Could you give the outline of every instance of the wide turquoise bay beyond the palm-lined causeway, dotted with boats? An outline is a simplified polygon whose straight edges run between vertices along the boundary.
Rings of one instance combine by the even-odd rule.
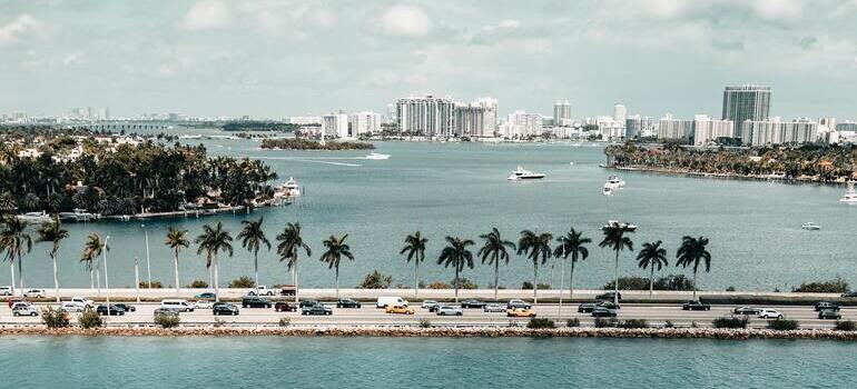
[[[196,142],[196,141],[195,141]],[[204,141],[213,154],[263,158],[283,178],[294,176],[305,189],[295,206],[265,209],[250,217],[265,217],[268,236],[287,221],[299,221],[313,247],[313,258],[303,258],[304,287],[329,287],[333,272],[318,261],[322,240],[331,233],[349,233],[356,256],[341,269],[342,286],[354,286],[378,269],[394,278],[394,285],[411,285],[413,268],[398,256],[406,233],[421,230],[430,238],[427,263],[422,279],[446,281],[452,269],[435,265],[445,235],[477,239],[491,227],[516,240],[522,229],[554,235],[574,226],[595,241],[591,256],[578,269],[575,286],[594,288],[612,277],[612,253],[599,249],[598,230],[608,219],[623,219],[640,226],[633,235],[636,247],[643,241],[663,240],[674,262],[674,250],[683,235],[706,236],[713,256],[710,273],[700,275],[700,286],[723,289],[735,286],[750,290],[789,289],[806,280],[837,275],[857,282],[855,216],[857,207],[837,199],[843,188],[791,186],[755,181],[695,179],[648,173],[623,173],[628,187],[604,197],[601,187],[611,173],[598,167],[604,161],[602,147],[571,143],[481,144],[378,142],[377,152],[390,160],[361,159],[362,151],[263,151],[250,140]],[[570,164],[570,162],[574,162]],[[518,164],[542,171],[542,182],[508,182]],[[162,245],[167,227],[177,226],[197,235],[207,222],[223,221],[237,233],[244,215],[148,222],[152,278],[173,283],[171,253]],[[804,231],[814,221],[820,231]],[[98,231],[110,236],[111,286],[134,283],[134,257],[141,259],[146,277],[142,229],[137,222],[67,225],[71,238],[60,249],[63,286],[88,286],[89,277],[79,263],[85,236]],[[36,246],[24,258],[29,286],[51,286],[47,245]],[[204,259],[195,249],[180,260],[181,283],[208,279]],[[623,275],[648,276],[637,268],[633,253],[623,253]],[[263,283],[287,280],[285,266],[275,253],[259,255]],[[559,265],[554,273],[559,271]],[[670,268],[670,272],[689,271]],[[253,273],[249,255],[236,246],[235,257],[221,260],[221,285]],[[489,267],[465,270],[463,276],[486,287],[493,279]],[[519,287],[532,277],[532,266],[513,257],[502,268],[501,285]],[[559,286],[558,276],[553,285]],[[8,283],[9,271],[0,271]],[[542,282],[551,282],[550,266],[540,270]]]

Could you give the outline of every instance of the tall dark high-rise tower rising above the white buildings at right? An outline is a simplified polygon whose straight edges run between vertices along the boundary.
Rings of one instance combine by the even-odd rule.
[[[735,136],[743,138],[742,123],[746,120],[765,121],[770,114],[769,87],[745,84],[726,87],[723,90],[723,116],[721,119],[735,122]]]

